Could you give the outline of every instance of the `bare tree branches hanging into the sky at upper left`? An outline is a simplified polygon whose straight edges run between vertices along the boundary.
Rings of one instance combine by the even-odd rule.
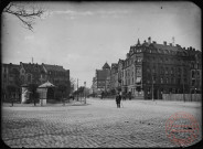
[[[32,31],[34,20],[41,18],[44,10],[34,4],[10,2],[2,12],[17,17],[26,29]]]

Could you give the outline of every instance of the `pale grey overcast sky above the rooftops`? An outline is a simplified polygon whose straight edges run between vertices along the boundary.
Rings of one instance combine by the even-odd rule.
[[[40,2],[33,32],[2,15],[2,62],[62,65],[90,87],[95,70],[126,58],[149,36],[201,50],[201,10],[192,2]]]

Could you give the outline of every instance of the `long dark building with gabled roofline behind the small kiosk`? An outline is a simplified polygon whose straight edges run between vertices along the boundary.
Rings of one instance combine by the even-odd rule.
[[[3,97],[8,94],[8,86],[15,86],[15,94],[21,92],[21,85],[41,85],[45,82],[51,82],[55,86],[65,86],[65,94],[70,94],[70,70],[64,70],[63,66],[49,65],[49,64],[33,64],[22,63],[15,64],[2,64],[2,91],[4,91]],[[11,88],[11,87],[10,87]]]

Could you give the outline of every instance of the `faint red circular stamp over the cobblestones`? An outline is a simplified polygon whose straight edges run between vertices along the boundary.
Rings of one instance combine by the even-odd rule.
[[[190,146],[199,136],[199,123],[191,114],[179,111],[165,123],[167,137],[178,146]]]

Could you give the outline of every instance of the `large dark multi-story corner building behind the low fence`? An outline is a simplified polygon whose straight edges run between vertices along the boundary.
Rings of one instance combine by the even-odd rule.
[[[201,58],[201,52],[192,47],[185,50],[167,42],[158,44],[151,42],[151,38],[140,44],[138,40],[125,60],[124,85],[135,98],[145,99],[162,98],[163,93],[200,91]]]

